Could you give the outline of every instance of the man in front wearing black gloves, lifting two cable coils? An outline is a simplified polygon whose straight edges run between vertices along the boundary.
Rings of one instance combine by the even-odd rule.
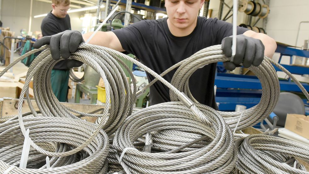
[[[232,35],[232,25],[217,19],[199,17],[198,13],[204,2],[205,0],[165,0],[168,18],[143,20],[120,30],[98,32],[89,43],[132,53],[158,74],[200,49],[220,43],[224,54],[231,57],[232,39],[229,36]],[[83,35],[84,39],[88,39],[91,34],[92,32]],[[238,27],[237,34],[234,62],[226,62],[226,69],[233,70],[240,63],[245,67],[258,66],[264,55],[273,56],[276,42],[269,36],[242,27]],[[63,42],[59,44],[60,39]],[[66,59],[80,42],[83,39],[79,32],[66,31],[42,38],[40,44],[34,47],[50,44],[52,56],[57,60],[60,58],[59,46],[63,48],[61,55]],[[71,60],[69,64],[81,65],[75,60]],[[197,70],[190,78],[190,91],[197,101],[217,109],[213,90],[215,69],[216,64],[211,64]],[[174,72],[164,78],[170,82]],[[153,77],[148,76],[148,79],[151,81]],[[168,88],[156,82],[150,88],[150,103],[153,105],[168,101]]]

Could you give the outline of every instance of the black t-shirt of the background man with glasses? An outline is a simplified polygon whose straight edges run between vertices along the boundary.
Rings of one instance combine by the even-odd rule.
[[[52,12],[50,12],[42,20],[41,31],[43,36],[51,36],[66,30],[71,30],[71,22],[68,14],[65,16],[65,18],[58,18],[53,15]],[[67,62],[68,60],[62,60],[58,62],[52,69],[69,70]]]

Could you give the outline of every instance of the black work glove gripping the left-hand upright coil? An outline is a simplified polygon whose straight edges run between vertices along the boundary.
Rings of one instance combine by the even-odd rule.
[[[50,45],[52,58],[60,59],[60,53],[63,59],[68,59],[70,53],[74,53],[80,43],[85,42],[79,31],[66,30],[61,33],[44,36],[33,44],[33,48],[41,48],[43,45]],[[83,62],[78,60],[69,60],[68,67],[78,67],[83,65]]]

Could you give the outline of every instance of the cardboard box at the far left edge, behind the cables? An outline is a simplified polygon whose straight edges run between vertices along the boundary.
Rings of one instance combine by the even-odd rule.
[[[16,82],[0,82],[0,98],[12,97],[17,98],[17,83]]]

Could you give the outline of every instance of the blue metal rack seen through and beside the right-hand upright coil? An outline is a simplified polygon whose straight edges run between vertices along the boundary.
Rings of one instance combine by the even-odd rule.
[[[292,61],[293,55],[309,58],[308,51],[288,48],[281,45],[278,45],[276,52],[281,53],[280,59],[283,55],[290,56],[290,61]],[[222,67],[223,63],[218,62],[217,66]],[[291,65],[282,66],[292,74],[309,74],[308,67]],[[281,71],[276,66],[274,67],[276,71]],[[280,90],[282,91],[301,92],[301,89],[294,82],[288,80],[279,80],[279,84]],[[217,72],[215,85],[217,86],[216,101],[219,103],[219,109],[224,111],[235,110],[236,104],[242,104],[247,106],[247,108],[251,108],[252,106],[255,106],[259,103],[262,96],[261,82],[257,79],[256,76],[235,75]],[[302,83],[302,85],[307,91],[309,91],[309,85],[307,83]],[[306,99],[303,100],[304,103],[307,103]],[[307,110],[309,113],[309,109]]]

